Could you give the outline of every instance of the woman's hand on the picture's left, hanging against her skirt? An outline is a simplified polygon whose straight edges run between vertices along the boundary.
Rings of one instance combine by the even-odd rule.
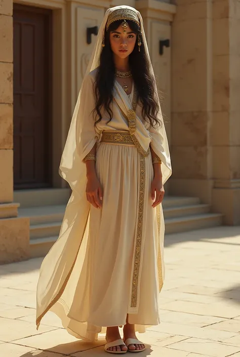
[[[102,207],[102,187],[96,174],[88,176],[86,195],[91,205],[96,208]]]

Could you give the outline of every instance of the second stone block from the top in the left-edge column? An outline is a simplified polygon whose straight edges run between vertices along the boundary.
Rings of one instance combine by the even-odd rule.
[[[0,43],[1,43],[0,62],[13,62],[12,16],[0,15]]]

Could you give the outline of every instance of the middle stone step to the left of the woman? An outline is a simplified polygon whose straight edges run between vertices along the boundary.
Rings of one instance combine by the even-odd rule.
[[[58,235],[62,222],[48,222],[30,225],[30,240]]]

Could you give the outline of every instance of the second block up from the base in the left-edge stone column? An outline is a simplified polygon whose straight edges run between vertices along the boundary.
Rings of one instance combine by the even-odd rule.
[[[13,148],[13,105],[0,104],[0,149]]]

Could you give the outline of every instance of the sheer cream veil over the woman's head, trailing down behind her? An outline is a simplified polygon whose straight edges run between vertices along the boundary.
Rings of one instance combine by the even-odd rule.
[[[137,13],[140,19],[142,41],[148,56],[150,71],[152,75],[154,75],[140,13],[128,6],[118,6],[106,11],[83,82],[86,80],[88,74],[98,67],[106,22],[109,14],[117,9],[131,9]],[[90,90],[89,87],[87,88],[87,92],[88,90]],[[63,326],[69,333],[76,337],[79,337],[78,334],[72,332],[77,329],[75,326],[76,321],[69,318],[67,310],[69,306],[71,306],[74,298],[76,282],[79,279],[79,272],[81,272],[83,268],[88,241],[90,203],[86,199],[85,190],[87,178],[86,165],[83,163],[83,158],[97,141],[97,138],[91,138],[88,145],[86,145],[86,138],[85,144],[83,138],[81,139],[83,126],[81,119],[85,114],[83,107],[85,106],[84,102],[88,96],[88,93],[84,92],[86,91],[80,90],[77,98],[59,168],[59,173],[69,183],[72,194],[66,207],[59,238],[42,263],[36,294],[37,328],[47,311],[52,310],[61,318]],[[160,111],[159,119],[161,118],[162,114]],[[162,165],[162,173],[163,182],[165,182],[171,175],[171,162],[164,123],[158,132],[151,132],[151,135],[152,148],[164,164]],[[159,214],[161,214],[161,219],[163,220],[162,211]],[[161,224],[160,230],[159,234],[163,248],[164,224]],[[80,335],[83,336],[84,332]]]

